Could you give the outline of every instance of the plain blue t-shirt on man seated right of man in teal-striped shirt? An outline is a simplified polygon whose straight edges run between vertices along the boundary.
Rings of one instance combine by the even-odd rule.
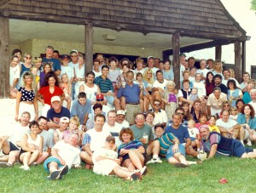
[[[180,125],[178,128],[172,128],[172,125],[168,126],[166,127],[165,133],[174,134],[179,140],[180,144],[186,143],[185,139],[189,138],[188,128],[185,128],[182,125]]]

